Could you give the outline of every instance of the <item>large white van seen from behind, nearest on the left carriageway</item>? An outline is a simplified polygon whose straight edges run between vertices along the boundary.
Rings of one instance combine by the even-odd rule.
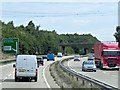
[[[16,58],[15,81],[20,79],[34,79],[37,81],[37,58],[36,55],[18,55]]]

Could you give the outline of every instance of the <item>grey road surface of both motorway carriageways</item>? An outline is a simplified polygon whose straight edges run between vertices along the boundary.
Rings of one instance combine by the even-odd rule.
[[[56,60],[61,60],[63,58],[56,58]],[[91,77],[93,79],[96,79],[98,81],[104,82],[106,84],[109,84],[113,87],[118,88],[118,81],[120,80],[120,77],[118,77],[118,71],[117,70],[100,70],[97,69],[96,72],[83,72],[82,71],[82,62],[84,60],[87,60],[87,57],[81,58],[81,61],[73,61],[70,60],[65,63],[66,66],[70,67],[70,69],[86,75],[88,77]],[[49,73],[49,65],[53,63],[54,61],[47,61],[45,59],[45,64],[44,66],[40,66],[38,68],[38,81],[21,81],[21,82],[15,82],[14,81],[14,73],[15,70],[13,68],[13,63],[11,64],[6,64],[0,66],[0,89],[7,88],[7,89],[14,89],[16,88],[25,88],[25,89],[41,89],[41,88],[60,88],[53,80]],[[7,90],[4,89],[4,90]]]

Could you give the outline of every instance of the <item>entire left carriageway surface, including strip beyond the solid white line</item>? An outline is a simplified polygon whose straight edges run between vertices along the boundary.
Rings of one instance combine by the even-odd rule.
[[[66,58],[66,57],[63,57]],[[63,58],[56,58],[56,60],[61,60]],[[15,88],[27,88],[27,89],[33,89],[33,88],[59,88],[57,84],[54,82],[53,78],[51,77],[49,73],[49,65],[53,63],[54,61],[47,61],[45,59],[44,66],[40,66],[38,68],[38,81],[20,81],[15,82],[14,81],[14,73],[15,69],[13,68],[13,63],[2,65],[0,66],[0,89],[2,88],[8,88],[11,90]],[[5,89],[6,90],[6,89]],[[16,89],[15,89],[16,90]]]

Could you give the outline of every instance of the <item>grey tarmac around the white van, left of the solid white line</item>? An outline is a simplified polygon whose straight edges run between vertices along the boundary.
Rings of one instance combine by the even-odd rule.
[[[45,63],[48,63],[45,61]],[[45,64],[47,65],[47,64]],[[2,82],[2,88],[47,88],[46,83],[44,82],[44,79],[42,77],[44,66],[40,66],[38,68],[38,81],[20,81],[15,82],[14,81],[14,68],[11,65],[3,67],[2,72],[3,79],[5,79]],[[6,76],[7,75],[7,76]]]

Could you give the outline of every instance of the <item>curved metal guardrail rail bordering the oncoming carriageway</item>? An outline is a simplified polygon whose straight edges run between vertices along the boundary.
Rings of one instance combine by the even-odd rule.
[[[69,58],[69,59],[72,59],[72,58]],[[87,77],[87,76],[85,76],[85,75],[82,75],[82,74],[80,74],[80,73],[77,73],[77,72],[71,70],[69,67],[65,67],[62,63],[63,63],[64,61],[66,61],[66,60],[68,60],[68,59],[64,59],[64,60],[61,60],[61,61],[59,62],[60,67],[61,67],[64,71],[66,71],[66,72],[74,75],[74,76],[77,77],[77,78],[80,78],[80,79],[82,79],[82,80],[86,80],[86,81],[88,81],[88,82],[91,82],[91,83],[97,85],[99,88],[101,88],[101,89],[103,89],[103,90],[118,90],[118,88],[115,88],[115,87],[110,86],[110,85],[108,85],[108,84],[106,84],[106,83],[100,82],[100,81],[98,81],[98,80],[92,79],[92,78]]]

